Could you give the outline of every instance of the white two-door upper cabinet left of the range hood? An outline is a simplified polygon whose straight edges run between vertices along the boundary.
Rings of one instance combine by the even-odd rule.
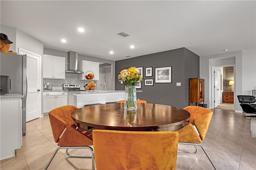
[[[65,79],[65,57],[44,54],[43,78]]]

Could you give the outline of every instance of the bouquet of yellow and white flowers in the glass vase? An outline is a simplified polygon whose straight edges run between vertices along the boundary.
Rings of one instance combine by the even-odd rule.
[[[140,75],[140,71],[136,67],[130,67],[128,69],[124,69],[120,71],[118,75],[119,82],[123,82],[126,86],[135,86],[136,83],[142,81],[142,76]]]

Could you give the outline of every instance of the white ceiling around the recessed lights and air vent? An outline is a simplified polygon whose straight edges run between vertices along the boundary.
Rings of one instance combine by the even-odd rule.
[[[1,24],[28,33],[44,48],[112,61],[181,47],[199,56],[256,47],[255,0],[1,0],[0,6]],[[130,36],[121,37],[120,32]]]

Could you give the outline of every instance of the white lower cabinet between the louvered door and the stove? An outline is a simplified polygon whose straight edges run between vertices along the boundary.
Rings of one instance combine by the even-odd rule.
[[[68,93],[43,92],[43,112],[49,113],[52,109],[68,105]]]

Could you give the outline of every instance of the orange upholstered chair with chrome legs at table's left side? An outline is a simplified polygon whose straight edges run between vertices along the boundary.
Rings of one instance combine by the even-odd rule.
[[[49,119],[52,127],[54,141],[58,143],[58,147],[50,158],[45,170],[48,168],[52,159],[59,149],[66,149],[66,154],[72,157],[92,158],[92,169],[94,170],[94,151],[88,145],[93,145],[92,133],[84,131],[76,126],[71,118],[72,111],[78,109],[75,106],[62,106],[49,112]],[[92,156],[70,155],[68,149],[87,148],[92,152]]]

